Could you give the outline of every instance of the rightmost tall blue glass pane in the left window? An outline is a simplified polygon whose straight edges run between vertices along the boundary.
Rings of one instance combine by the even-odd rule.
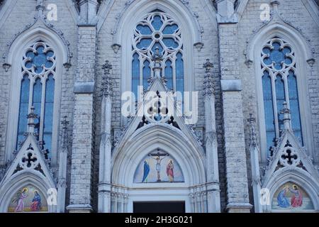
[[[52,124],[53,124],[53,108],[55,98],[55,79],[53,75],[47,78],[45,87],[45,116],[43,127],[43,142],[45,150],[51,150],[52,145]]]

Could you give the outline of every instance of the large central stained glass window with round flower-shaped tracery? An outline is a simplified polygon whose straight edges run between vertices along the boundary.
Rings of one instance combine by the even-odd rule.
[[[147,79],[153,76],[152,55],[162,55],[161,77],[167,88],[184,92],[184,56],[181,29],[177,21],[164,11],[148,13],[135,26],[132,38],[132,91],[138,96],[138,86],[147,89]]]

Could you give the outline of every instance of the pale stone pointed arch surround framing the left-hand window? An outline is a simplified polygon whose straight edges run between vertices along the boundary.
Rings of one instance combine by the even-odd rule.
[[[50,45],[55,53],[55,72],[53,78],[54,86],[54,105],[52,120],[52,163],[57,162],[57,139],[60,114],[58,111],[61,99],[62,77],[65,73],[65,67],[69,65],[72,53],[66,40],[62,40],[61,34],[56,33],[52,28],[47,27],[45,21],[38,19],[33,26],[21,32],[20,35],[13,38],[6,55],[6,63],[11,65],[11,93],[9,102],[9,121],[6,136],[6,160],[12,160],[13,150],[16,150],[16,136],[18,134],[18,105],[20,100],[21,87],[21,62],[26,49],[33,43],[41,41]],[[64,67],[65,66],[65,67]],[[37,75],[35,75],[36,77]],[[19,78],[19,79],[18,79]],[[46,77],[45,77],[46,78]],[[29,109],[28,109],[29,111]]]

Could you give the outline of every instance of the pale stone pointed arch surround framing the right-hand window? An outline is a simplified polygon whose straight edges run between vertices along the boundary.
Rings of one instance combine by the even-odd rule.
[[[266,125],[265,125],[265,114],[264,114],[264,103],[263,103],[263,88],[262,88],[262,75],[264,70],[260,67],[261,65],[261,53],[269,40],[273,38],[279,38],[284,40],[286,43],[293,48],[295,53],[296,70],[297,75],[297,87],[300,104],[300,115],[302,124],[302,135],[304,138],[304,145],[309,150],[310,155],[313,155],[313,130],[312,123],[310,121],[310,103],[307,99],[308,96],[308,83],[307,83],[307,60],[312,58],[310,46],[306,41],[306,38],[297,31],[295,28],[290,26],[278,18],[274,18],[267,25],[262,27],[250,40],[247,45],[247,61],[253,62],[254,64],[254,76],[256,77],[256,91],[258,101],[258,118],[259,118],[259,138],[267,138]],[[276,119],[275,119],[276,120]],[[278,130],[277,130],[278,131]],[[277,132],[278,134],[278,132]],[[279,137],[279,136],[278,136]],[[267,162],[267,141],[260,141],[261,157],[262,162]]]

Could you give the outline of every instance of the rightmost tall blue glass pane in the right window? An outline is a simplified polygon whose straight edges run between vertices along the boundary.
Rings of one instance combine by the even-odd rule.
[[[301,118],[298,99],[297,79],[293,71],[288,76],[289,104],[291,109],[291,125],[293,133],[301,139],[303,145],[303,135],[301,131]]]

